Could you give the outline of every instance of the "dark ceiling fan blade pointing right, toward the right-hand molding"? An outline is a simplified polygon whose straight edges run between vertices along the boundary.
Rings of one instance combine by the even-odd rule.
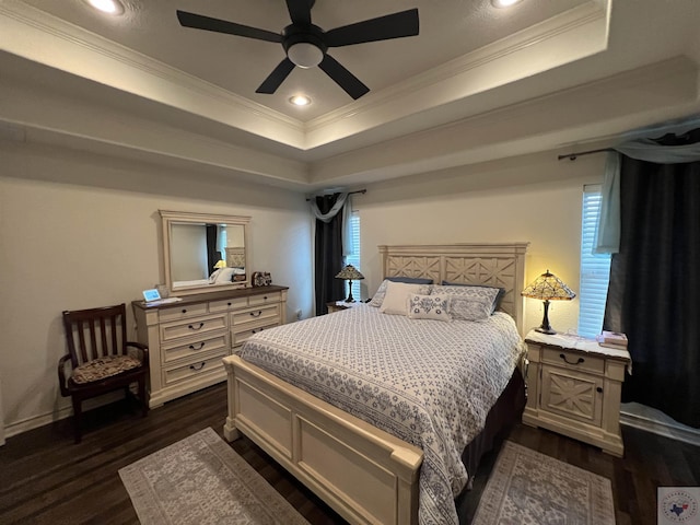
[[[387,14],[355,24],[343,25],[326,32],[324,39],[328,47],[349,46],[365,42],[387,40],[418,35],[418,9]]]

